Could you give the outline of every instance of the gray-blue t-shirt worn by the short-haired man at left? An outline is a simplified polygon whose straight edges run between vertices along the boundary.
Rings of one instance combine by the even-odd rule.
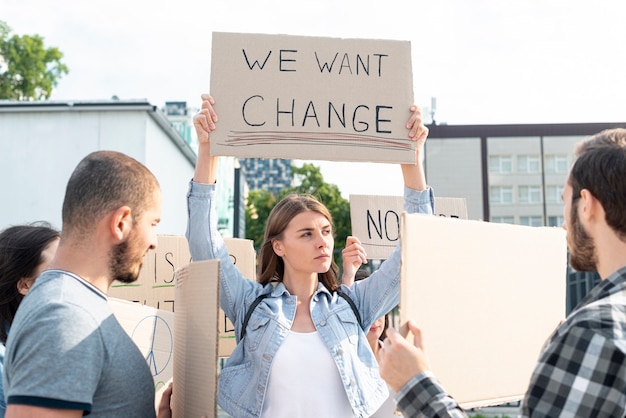
[[[80,409],[90,417],[154,417],[154,383],[106,295],[68,272],[44,272],[7,341],[7,403]]]

